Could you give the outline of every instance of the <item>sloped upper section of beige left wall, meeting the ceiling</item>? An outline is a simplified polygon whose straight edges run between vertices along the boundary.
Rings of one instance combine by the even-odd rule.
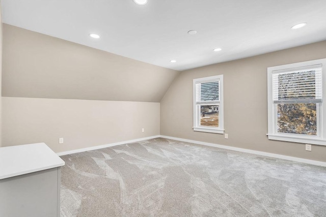
[[[160,102],[179,74],[8,24],[3,34],[4,97]]]

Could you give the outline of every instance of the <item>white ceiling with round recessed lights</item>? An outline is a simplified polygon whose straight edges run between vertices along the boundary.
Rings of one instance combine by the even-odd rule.
[[[2,0],[2,13],[7,24],[180,71],[326,40],[325,0]]]

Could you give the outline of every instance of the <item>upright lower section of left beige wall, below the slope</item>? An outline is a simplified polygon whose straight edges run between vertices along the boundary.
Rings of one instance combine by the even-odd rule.
[[[53,151],[61,152],[159,135],[159,103],[2,100],[3,146],[45,142]],[[64,144],[58,144],[60,137]]]

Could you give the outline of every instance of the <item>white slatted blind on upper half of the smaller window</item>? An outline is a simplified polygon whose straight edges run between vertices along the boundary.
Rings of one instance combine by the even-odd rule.
[[[220,102],[220,81],[196,83],[196,104]]]

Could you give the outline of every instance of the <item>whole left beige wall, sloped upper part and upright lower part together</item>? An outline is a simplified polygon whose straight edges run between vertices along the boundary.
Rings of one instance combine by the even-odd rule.
[[[3,33],[3,146],[62,152],[159,135],[157,102],[178,71],[8,24]]]

